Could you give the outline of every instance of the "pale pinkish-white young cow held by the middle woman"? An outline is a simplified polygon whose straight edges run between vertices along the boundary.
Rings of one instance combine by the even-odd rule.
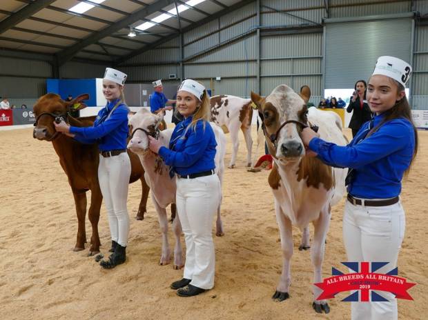
[[[171,261],[171,250],[168,245],[168,219],[166,217],[166,206],[175,203],[175,178],[169,176],[169,166],[166,166],[159,155],[154,154],[148,149],[148,134],[156,137],[162,144],[168,148],[169,140],[171,139],[172,129],[159,131],[159,124],[162,123],[161,115],[152,114],[148,110],[142,109],[130,117],[129,123],[133,136],[128,143],[128,149],[138,154],[142,165],[146,168],[144,177],[148,186],[150,186],[151,197],[155,205],[159,224],[162,231],[162,255],[159,264],[166,265]],[[215,140],[217,141],[215,153],[215,173],[219,176],[220,182],[223,181],[224,173],[224,153],[226,152],[226,137],[222,129],[211,123],[213,127]],[[221,201],[220,201],[221,203]],[[184,266],[182,258],[182,244],[180,242],[180,234],[182,226],[179,223],[178,215],[173,220],[173,232],[175,235],[174,248],[174,268],[179,269]],[[222,236],[223,224],[220,217],[220,206],[217,209],[216,235]]]

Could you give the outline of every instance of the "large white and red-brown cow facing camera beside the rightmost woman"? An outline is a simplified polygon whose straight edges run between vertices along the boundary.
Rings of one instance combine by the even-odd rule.
[[[291,226],[303,231],[302,246],[309,246],[309,223],[314,226],[311,260],[314,268],[314,283],[322,282],[321,265],[331,214],[331,206],[342,199],[347,170],[331,168],[319,159],[307,156],[300,132],[308,123],[319,127],[322,139],[344,146],[347,141],[342,134],[342,123],[337,114],[307,108],[310,97],[305,86],[300,97],[285,85],[275,88],[262,98],[251,92],[251,99],[263,117],[264,134],[274,166],[269,175],[275,212],[280,228],[283,266],[280,282],[273,299],[289,298],[291,283],[290,260],[293,254]],[[303,98],[303,99],[302,99]],[[302,247],[301,246],[301,247]],[[316,301],[320,288],[313,286],[313,308],[316,312],[329,312],[327,301]]]

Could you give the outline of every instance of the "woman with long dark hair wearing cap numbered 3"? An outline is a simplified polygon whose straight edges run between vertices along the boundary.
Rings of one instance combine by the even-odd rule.
[[[405,61],[378,58],[367,89],[374,117],[362,125],[348,146],[323,141],[310,128],[302,130],[310,156],[316,155],[329,166],[349,168],[344,247],[348,261],[385,263],[376,273],[396,268],[405,235],[402,177],[418,151],[418,132],[405,92],[410,74],[411,66]],[[395,295],[382,292],[379,296],[379,302],[352,302],[351,319],[398,319]]]

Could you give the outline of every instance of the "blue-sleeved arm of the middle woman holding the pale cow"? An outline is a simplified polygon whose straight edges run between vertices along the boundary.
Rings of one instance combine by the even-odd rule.
[[[198,121],[196,132],[193,128],[189,128],[188,130],[191,132],[186,139],[184,150],[177,152],[164,146],[159,148],[158,153],[164,159],[166,165],[188,168],[193,166],[202,157],[202,154],[204,154],[210,141],[209,136],[214,134],[211,126],[206,123],[204,128],[202,121]]]

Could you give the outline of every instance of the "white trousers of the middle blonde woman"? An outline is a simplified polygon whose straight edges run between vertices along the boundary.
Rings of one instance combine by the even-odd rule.
[[[184,278],[202,289],[214,286],[215,250],[213,218],[220,204],[220,180],[217,174],[195,179],[177,178],[176,204],[184,239],[186,263]]]

